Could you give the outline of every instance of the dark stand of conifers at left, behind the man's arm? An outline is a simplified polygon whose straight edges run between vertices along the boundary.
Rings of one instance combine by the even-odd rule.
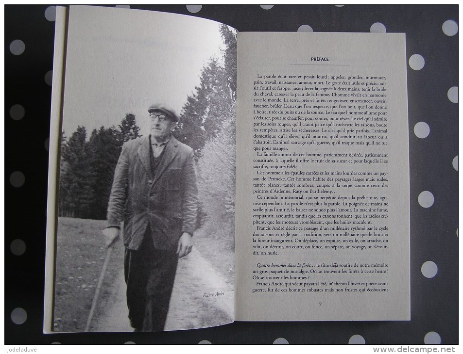
[[[59,183],[60,216],[103,220],[122,144],[139,137],[135,115],[126,114],[118,126],[78,127],[69,140],[62,133]]]

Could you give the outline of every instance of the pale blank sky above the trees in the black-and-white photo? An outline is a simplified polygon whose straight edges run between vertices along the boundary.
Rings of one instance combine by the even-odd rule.
[[[202,67],[223,48],[210,20],[133,9],[71,6],[63,129],[117,126],[126,113],[148,132],[148,107],[180,113]]]

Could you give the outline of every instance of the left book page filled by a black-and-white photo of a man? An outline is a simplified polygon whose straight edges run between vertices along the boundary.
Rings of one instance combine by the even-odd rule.
[[[233,322],[236,30],[58,7],[52,89],[44,332]]]

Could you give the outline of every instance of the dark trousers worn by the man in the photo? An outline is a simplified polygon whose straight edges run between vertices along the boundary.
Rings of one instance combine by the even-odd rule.
[[[149,233],[148,227],[141,247],[126,248],[124,257],[130,324],[143,332],[164,330],[178,263],[175,251],[154,248]]]

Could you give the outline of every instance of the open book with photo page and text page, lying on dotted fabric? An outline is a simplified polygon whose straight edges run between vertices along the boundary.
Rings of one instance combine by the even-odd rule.
[[[167,152],[152,160],[169,176],[158,189],[166,210],[183,213],[148,227],[176,230],[175,220],[178,238],[190,234],[193,161],[197,229],[173,285],[135,300],[132,291],[132,312],[160,288],[171,291],[164,330],[410,320],[404,34],[238,33],[191,16],[86,6],[56,15],[44,332],[149,328],[129,321],[126,294],[128,259],[149,238],[131,243],[130,203],[151,215],[153,188],[147,198],[140,172],[123,176],[137,164],[132,147],[153,144],[153,112],[175,128],[166,146],[183,149],[173,162]],[[120,225],[106,220],[114,193]],[[124,235],[110,247],[108,226]]]

